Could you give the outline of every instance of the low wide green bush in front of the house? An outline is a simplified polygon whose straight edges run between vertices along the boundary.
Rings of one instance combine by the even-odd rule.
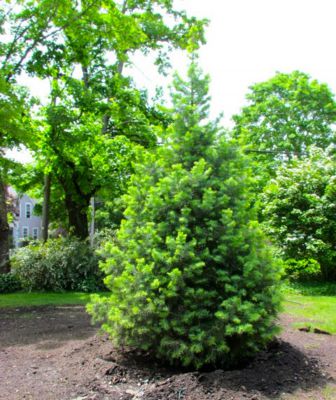
[[[11,265],[25,290],[93,292],[104,287],[98,261],[87,242],[57,238],[16,250]]]

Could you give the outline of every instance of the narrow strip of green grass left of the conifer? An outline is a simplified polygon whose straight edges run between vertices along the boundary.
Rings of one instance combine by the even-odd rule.
[[[106,295],[106,293],[102,293]],[[90,300],[89,293],[10,293],[0,294],[0,308],[3,307],[30,307],[44,305],[85,305]]]

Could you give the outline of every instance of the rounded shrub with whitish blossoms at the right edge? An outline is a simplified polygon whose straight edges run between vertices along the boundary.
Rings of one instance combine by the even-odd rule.
[[[314,259],[329,281],[336,280],[335,195],[335,159],[315,149],[280,168],[263,196],[265,229],[284,259],[296,260],[300,269]]]

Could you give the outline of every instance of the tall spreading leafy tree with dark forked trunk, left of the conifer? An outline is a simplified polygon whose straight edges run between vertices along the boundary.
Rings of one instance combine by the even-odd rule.
[[[166,0],[18,3],[3,67],[8,76],[26,70],[52,82],[57,104],[51,100],[45,112],[39,156],[64,192],[69,226],[84,238],[90,197],[102,186],[122,186],[118,179],[129,175],[121,172],[127,161],[121,166],[119,156],[130,142],[155,143],[158,114],[124,67],[136,52],[154,52],[163,70],[170,49],[203,41],[205,21]]]

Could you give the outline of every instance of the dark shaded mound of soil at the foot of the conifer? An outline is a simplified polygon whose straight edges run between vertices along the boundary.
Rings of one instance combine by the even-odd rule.
[[[277,399],[283,393],[318,389],[331,383],[317,359],[282,340],[275,341],[247,365],[230,371],[174,371],[132,352],[119,359],[114,353],[110,361],[112,368],[107,374],[114,383],[136,379],[157,382],[144,389],[146,400]]]

